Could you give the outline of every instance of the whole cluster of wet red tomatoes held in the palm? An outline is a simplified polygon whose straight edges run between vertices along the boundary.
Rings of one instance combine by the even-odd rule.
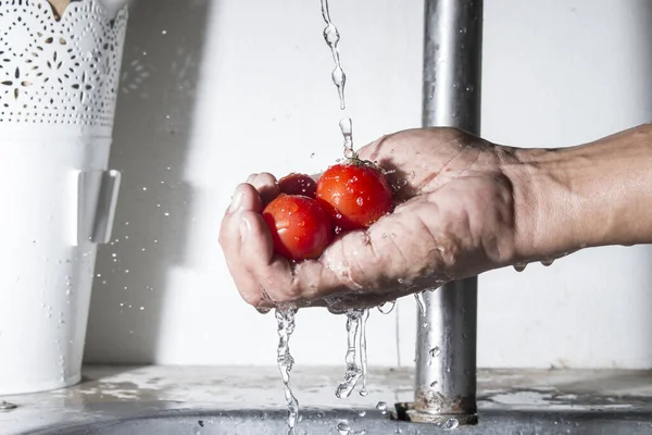
[[[274,250],[294,261],[318,258],[341,232],[366,228],[387,214],[392,195],[385,175],[358,158],[328,167],[314,181],[292,173],[263,210]]]

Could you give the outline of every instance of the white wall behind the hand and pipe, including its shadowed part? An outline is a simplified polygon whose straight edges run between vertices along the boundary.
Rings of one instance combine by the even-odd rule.
[[[359,145],[421,120],[422,0],[331,0]],[[565,146],[652,119],[648,0],[486,1],[482,130]],[[317,0],[140,0],[131,8],[87,360],[273,364],[276,330],[237,295],[220,220],[251,172],[341,153]],[[314,153],[314,156],[313,156]],[[165,214],[168,213],[168,214]],[[115,257],[113,257],[115,254]],[[652,366],[652,248],[480,277],[481,366]],[[412,298],[369,320],[371,365],[412,364]],[[298,315],[299,364],[343,364],[344,322]]]

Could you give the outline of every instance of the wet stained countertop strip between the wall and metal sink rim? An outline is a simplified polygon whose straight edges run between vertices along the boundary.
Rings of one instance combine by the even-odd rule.
[[[413,369],[369,368],[368,395],[338,399],[343,368],[297,368],[290,384],[301,407],[391,408],[413,397]],[[23,434],[61,422],[100,419],[116,406],[156,409],[284,409],[277,368],[86,366],[76,386],[0,397],[17,407],[0,411],[0,434]],[[480,370],[478,408],[636,410],[652,412],[652,372],[627,370]],[[123,411],[121,411],[123,412]]]

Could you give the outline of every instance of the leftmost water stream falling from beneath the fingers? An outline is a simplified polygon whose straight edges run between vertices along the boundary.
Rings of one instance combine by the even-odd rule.
[[[294,435],[294,425],[299,419],[299,401],[290,388],[290,372],[294,365],[294,359],[290,355],[290,337],[294,332],[296,312],[291,308],[275,310],[278,325],[277,362],[283,377],[284,394],[288,407],[288,435]]]

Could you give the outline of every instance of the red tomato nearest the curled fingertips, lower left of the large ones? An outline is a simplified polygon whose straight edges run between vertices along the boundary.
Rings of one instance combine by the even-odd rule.
[[[328,215],[312,198],[280,194],[265,207],[263,219],[274,250],[289,260],[316,259],[330,243]]]

